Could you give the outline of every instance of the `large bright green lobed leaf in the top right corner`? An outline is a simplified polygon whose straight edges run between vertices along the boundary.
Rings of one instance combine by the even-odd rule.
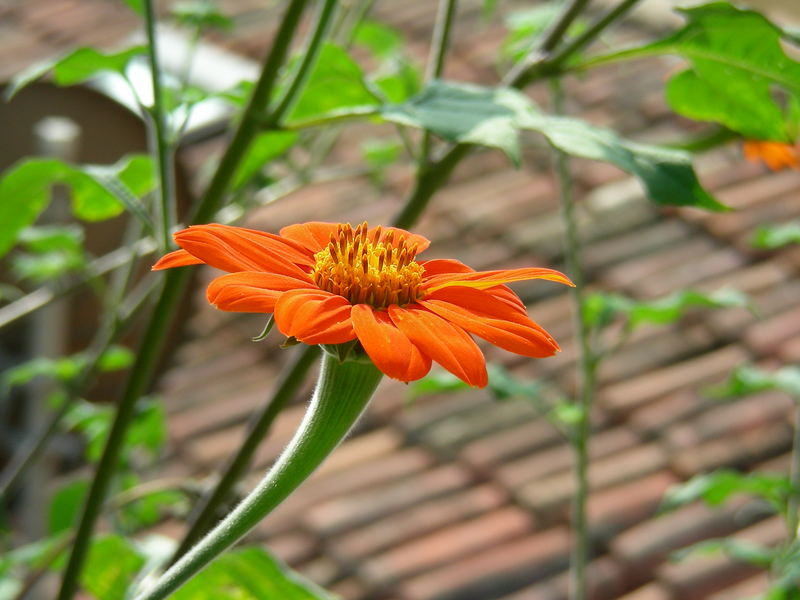
[[[728,2],[679,12],[687,19],[679,31],[586,64],[677,54],[691,64],[668,87],[668,100],[677,112],[717,121],[750,138],[793,142],[785,107],[774,93],[777,89],[800,96],[800,63],[784,52],[785,33],[762,14]]]

